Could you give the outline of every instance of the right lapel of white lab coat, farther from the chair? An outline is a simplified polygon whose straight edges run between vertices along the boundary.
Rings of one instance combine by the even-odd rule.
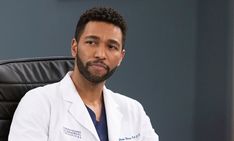
[[[104,87],[103,94],[106,109],[109,141],[117,141],[119,140],[123,115],[118,108],[118,104],[112,97],[112,92]]]

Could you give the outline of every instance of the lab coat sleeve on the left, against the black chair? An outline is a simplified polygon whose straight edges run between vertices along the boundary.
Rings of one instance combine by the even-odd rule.
[[[8,141],[48,141],[48,103],[37,90],[28,92],[15,111]]]

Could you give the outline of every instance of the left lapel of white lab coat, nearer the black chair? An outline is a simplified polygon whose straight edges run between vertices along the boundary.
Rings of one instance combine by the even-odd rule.
[[[79,96],[70,75],[67,75],[61,82],[61,91],[63,92],[63,98],[71,105],[68,108],[68,113],[83,127],[89,130],[95,138],[99,141],[99,137],[92,119],[87,111],[85,104]]]

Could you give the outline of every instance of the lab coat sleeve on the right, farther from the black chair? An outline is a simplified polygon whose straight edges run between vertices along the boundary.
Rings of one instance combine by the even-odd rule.
[[[142,105],[139,104],[139,111],[141,113],[140,115],[140,128],[141,128],[141,138],[142,141],[159,141],[159,137],[156,134],[155,130],[153,129],[150,118],[145,113]]]

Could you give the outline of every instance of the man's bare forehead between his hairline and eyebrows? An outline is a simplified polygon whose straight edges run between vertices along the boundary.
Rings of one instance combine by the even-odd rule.
[[[118,26],[107,22],[90,21],[86,24],[81,38],[97,36],[102,39],[111,39],[122,42],[122,31]]]

